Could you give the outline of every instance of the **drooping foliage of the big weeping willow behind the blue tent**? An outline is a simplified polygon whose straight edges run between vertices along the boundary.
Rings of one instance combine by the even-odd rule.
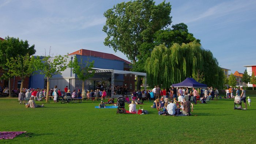
[[[197,75],[198,71],[204,73],[202,79],[208,86],[223,85],[223,72],[217,59],[197,41],[182,45],[174,43],[170,48],[165,45],[155,46],[147,58],[145,69],[147,82],[151,86],[162,84],[169,87],[186,77]]]

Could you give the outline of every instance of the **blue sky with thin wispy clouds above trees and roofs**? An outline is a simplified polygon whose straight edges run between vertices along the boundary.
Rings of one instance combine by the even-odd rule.
[[[169,0],[166,0],[168,2]],[[19,37],[35,44],[36,55],[79,49],[121,52],[103,45],[103,13],[121,0],[0,0],[0,37]],[[156,1],[156,4],[161,1]],[[223,68],[244,72],[256,64],[255,0],[172,0],[172,24],[185,23]]]

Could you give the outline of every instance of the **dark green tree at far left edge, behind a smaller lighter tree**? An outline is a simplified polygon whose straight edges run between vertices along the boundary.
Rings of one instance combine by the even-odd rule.
[[[0,41],[0,70],[3,72],[1,79],[9,79],[9,88],[11,87],[10,79],[12,72],[8,69],[7,60],[18,55],[25,56],[27,53],[31,56],[35,52],[35,45],[30,46],[27,40],[23,41],[19,40],[19,38],[8,36],[3,41]],[[11,92],[9,94],[11,96]]]

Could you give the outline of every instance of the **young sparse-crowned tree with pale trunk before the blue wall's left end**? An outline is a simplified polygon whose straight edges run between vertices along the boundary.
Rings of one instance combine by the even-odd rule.
[[[62,74],[61,72],[64,71],[65,69],[67,69],[67,56],[61,56],[61,55],[57,55],[57,56],[52,56],[52,54],[50,53],[49,50],[49,55],[46,55],[44,58],[37,62],[35,64],[37,70],[40,71],[40,74],[45,75],[46,79],[47,79],[47,86],[46,86],[46,102],[49,101],[49,86],[50,86],[50,82],[49,79],[57,74]]]

